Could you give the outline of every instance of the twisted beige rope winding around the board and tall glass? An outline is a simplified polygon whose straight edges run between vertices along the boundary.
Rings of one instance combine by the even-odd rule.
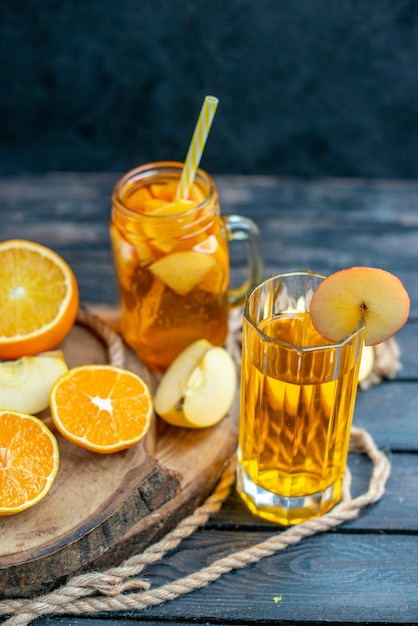
[[[103,340],[108,349],[110,364],[124,367],[124,346],[119,335],[114,333],[100,318],[85,309],[79,310],[77,322],[90,327]],[[235,318],[231,317],[232,329],[227,347],[233,352],[237,365],[240,360],[239,326],[239,315]],[[393,355],[396,360],[398,354]],[[395,369],[393,359],[391,362],[393,370]],[[384,374],[387,375],[388,371]],[[377,381],[373,381],[372,384],[374,382]],[[390,463],[385,454],[376,447],[372,437],[359,428],[352,428],[350,451],[366,454],[372,461],[373,470],[365,493],[354,499],[351,497],[351,473],[347,467],[341,501],[329,513],[286,530],[280,530],[267,540],[218,559],[198,572],[151,589],[150,584],[139,577],[143,569],[147,565],[160,561],[168,552],[176,549],[183,539],[202,527],[210,516],[219,511],[228,497],[234,484],[236,465],[235,457],[230,459],[213,493],[160,541],[149,546],[143,553],[126,559],[118,567],[112,567],[104,572],[89,572],[74,576],[63,587],[46,595],[34,599],[0,601],[0,615],[9,616],[3,622],[3,626],[27,626],[32,620],[42,615],[140,611],[147,607],[157,606],[201,589],[233,570],[257,563],[299,543],[302,539],[327,532],[344,522],[355,519],[362,508],[377,502],[382,497],[390,474]]]

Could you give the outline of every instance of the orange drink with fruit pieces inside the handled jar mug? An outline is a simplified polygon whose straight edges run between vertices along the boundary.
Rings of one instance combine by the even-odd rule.
[[[110,227],[122,307],[121,331],[152,370],[167,369],[196,339],[204,337],[222,345],[227,335],[229,257],[219,216],[209,207],[206,213],[196,208],[183,216],[169,210],[162,219],[141,218],[141,213],[152,212],[154,205],[156,214],[164,212],[176,187],[177,181],[161,181],[128,189],[124,203],[135,212],[135,219],[114,210]],[[193,186],[192,209],[203,194],[204,190]],[[152,267],[162,258],[190,251],[212,258],[213,264],[187,293],[178,293],[156,276]],[[176,271],[173,261],[170,273]]]

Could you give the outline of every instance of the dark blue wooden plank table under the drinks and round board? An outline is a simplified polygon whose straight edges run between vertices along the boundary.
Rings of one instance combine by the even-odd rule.
[[[116,304],[108,236],[117,174],[48,174],[0,180],[1,239],[46,244],[73,267],[85,302]],[[383,267],[411,295],[396,339],[403,369],[360,391],[355,424],[392,464],[386,493],[359,517],[306,538],[199,591],[121,614],[42,617],[36,624],[418,624],[418,181],[215,177],[223,212],[247,215],[264,240],[266,274],[350,265]],[[233,277],[242,257],[232,250]],[[350,455],[353,493],[370,463]],[[279,532],[232,493],[221,511],[146,571],[152,587],[206,567]]]

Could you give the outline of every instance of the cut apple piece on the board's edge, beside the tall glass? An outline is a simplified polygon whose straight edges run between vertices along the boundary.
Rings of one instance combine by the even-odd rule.
[[[207,428],[228,413],[236,387],[236,368],[230,354],[206,339],[198,339],[179,354],[161,378],[154,408],[173,426]]]

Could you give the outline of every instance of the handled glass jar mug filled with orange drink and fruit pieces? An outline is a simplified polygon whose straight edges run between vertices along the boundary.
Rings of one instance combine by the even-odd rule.
[[[156,162],[126,173],[112,196],[110,236],[121,301],[121,333],[151,370],[164,371],[193,341],[222,345],[228,311],[263,278],[252,220],[221,216],[212,178],[198,169],[187,200],[176,199],[183,164]],[[228,242],[247,250],[244,283],[229,287]]]

